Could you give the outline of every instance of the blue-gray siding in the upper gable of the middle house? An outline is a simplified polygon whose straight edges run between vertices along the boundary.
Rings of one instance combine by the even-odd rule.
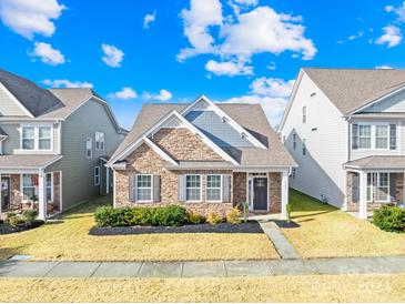
[[[214,111],[191,111],[185,119],[220,146],[253,146],[227,122],[223,122]]]

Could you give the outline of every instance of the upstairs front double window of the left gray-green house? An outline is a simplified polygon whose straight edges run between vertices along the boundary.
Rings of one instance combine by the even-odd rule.
[[[21,150],[52,150],[52,126],[50,125],[22,125]]]

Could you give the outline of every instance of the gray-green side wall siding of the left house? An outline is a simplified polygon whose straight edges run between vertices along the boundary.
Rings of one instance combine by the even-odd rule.
[[[95,131],[104,132],[104,151],[95,151]],[[85,139],[93,141],[93,158],[85,159]],[[63,159],[48,168],[47,171],[61,170],[63,210],[99,194],[94,185],[93,171],[99,165],[99,158],[111,155],[122,135],[110,120],[104,107],[89,101],[62,123]]]

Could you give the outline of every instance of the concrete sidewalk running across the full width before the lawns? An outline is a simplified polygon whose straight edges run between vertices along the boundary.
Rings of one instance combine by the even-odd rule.
[[[1,277],[232,277],[405,273],[405,256],[212,262],[0,262]]]

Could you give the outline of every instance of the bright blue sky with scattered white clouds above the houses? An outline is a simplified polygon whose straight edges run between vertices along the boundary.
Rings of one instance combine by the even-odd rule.
[[[0,0],[0,67],[91,85],[125,128],[144,102],[202,93],[261,103],[274,125],[302,67],[405,68],[404,3]]]

